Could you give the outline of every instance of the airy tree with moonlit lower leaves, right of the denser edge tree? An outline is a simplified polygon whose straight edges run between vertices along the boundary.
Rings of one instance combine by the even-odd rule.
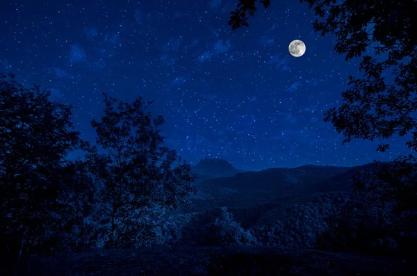
[[[97,145],[82,142],[108,220],[108,245],[142,245],[154,238],[165,209],[186,203],[195,176],[190,165],[163,145],[162,116],[152,118],[151,101],[119,102],[104,94],[101,121],[92,120]],[[104,153],[99,153],[99,147]]]

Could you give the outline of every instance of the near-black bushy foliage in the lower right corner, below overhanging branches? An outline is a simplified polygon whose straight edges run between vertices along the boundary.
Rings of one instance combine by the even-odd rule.
[[[414,250],[417,164],[411,156],[375,162],[354,176],[352,198],[327,218],[329,229],[318,247],[374,254]]]

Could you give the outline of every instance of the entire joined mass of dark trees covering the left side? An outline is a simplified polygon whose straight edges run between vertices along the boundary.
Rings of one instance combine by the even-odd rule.
[[[163,144],[162,116],[104,95],[92,120],[95,145],[80,140],[72,106],[0,74],[0,231],[10,257],[157,243],[165,210],[188,203],[191,168]],[[83,156],[67,159],[74,149]],[[159,235],[161,236],[161,235]]]

